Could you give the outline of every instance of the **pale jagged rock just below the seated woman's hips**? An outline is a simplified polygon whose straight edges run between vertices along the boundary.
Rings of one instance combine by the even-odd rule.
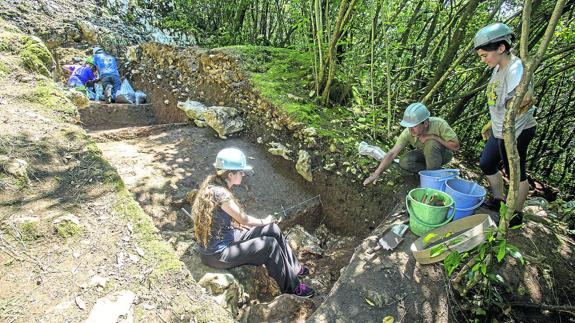
[[[234,315],[238,314],[238,303],[243,298],[244,289],[233,275],[207,273],[198,283],[214,296],[218,304]]]

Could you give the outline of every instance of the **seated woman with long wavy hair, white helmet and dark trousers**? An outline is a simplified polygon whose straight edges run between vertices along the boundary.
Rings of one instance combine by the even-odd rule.
[[[313,296],[313,288],[300,281],[309,269],[298,262],[274,217],[248,215],[230,191],[241,184],[244,171],[252,169],[244,153],[236,148],[223,149],[214,166],[216,173],[200,185],[192,204],[202,262],[218,269],[265,265],[282,293]]]

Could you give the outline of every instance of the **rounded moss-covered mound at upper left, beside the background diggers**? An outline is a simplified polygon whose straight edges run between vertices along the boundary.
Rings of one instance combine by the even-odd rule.
[[[20,51],[22,63],[32,72],[50,76],[54,58],[44,43],[37,37],[24,37]]]

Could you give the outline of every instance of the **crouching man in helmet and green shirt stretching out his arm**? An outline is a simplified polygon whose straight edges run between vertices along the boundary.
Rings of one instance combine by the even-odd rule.
[[[453,151],[459,150],[457,135],[445,120],[430,115],[427,107],[420,102],[412,103],[405,109],[400,123],[405,129],[375,172],[363,182],[364,186],[375,182],[407,145],[414,149],[399,159],[399,166],[407,171],[417,173],[425,169],[439,169],[451,160]]]

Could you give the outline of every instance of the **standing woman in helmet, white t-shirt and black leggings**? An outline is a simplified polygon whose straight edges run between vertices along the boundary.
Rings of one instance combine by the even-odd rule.
[[[513,39],[511,28],[503,23],[495,23],[481,28],[474,38],[474,48],[481,61],[493,68],[493,73],[487,86],[487,104],[491,118],[482,130],[483,138],[487,139],[487,142],[481,154],[479,166],[487,176],[493,193],[493,198],[487,200],[485,205],[497,211],[500,203],[505,202],[503,178],[498,170],[501,160],[503,160],[505,169],[509,174],[509,163],[503,143],[503,120],[505,111],[511,108],[511,101],[523,74],[521,59],[511,53]],[[523,222],[523,204],[529,193],[525,164],[527,148],[535,137],[537,125],[533,117],[535,107],[531,104],[532,95],[533,85],[530,84],[529,91],[525,95],[515,119],[515,136],[519,152],[521,182],[519,184],[515,213],[510,221],[511,226]]]

